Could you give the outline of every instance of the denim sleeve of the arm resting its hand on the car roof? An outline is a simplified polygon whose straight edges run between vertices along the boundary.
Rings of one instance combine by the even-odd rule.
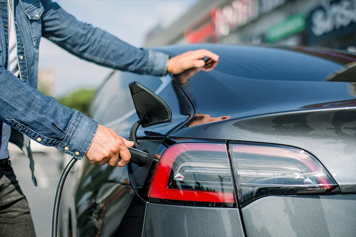
[[[57,3],[42,0],[42,33],[45,38],[78,56],[101,66],[137,74],[163,76],[167,54],[136,48],[117,37],[78,21]]]

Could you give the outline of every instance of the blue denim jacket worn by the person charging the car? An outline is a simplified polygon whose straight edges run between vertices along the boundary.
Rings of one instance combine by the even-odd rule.
[[[54,98],[42,95],[36,89],[41,37],[87,61],[137,74],[164,75],[168,55],[135,48],[103,30],[78,21],[51,0],[10,2],[14,9],[20,78],[6,70],[7,1],[0,0],[0,127],[5,122],[17,130],[11,131],[10,141],[21,148],[26,147],[24,151],[30,158],[32,171],[30,142],[22,134],[81,159],[89,149],[98,123],[79,111],[58,104]],[[36,185],[34,176],[33,180]]]

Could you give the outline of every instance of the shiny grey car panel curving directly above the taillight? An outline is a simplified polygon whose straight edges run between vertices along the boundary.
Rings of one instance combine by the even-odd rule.
[[[184,128],[173,136],[281,144],[311,153],[342,192],[356,193],[356,108],[317,109],[230,119]]]

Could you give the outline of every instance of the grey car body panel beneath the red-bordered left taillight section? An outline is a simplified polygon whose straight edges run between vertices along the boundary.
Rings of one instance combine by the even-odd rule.
[[[144,237],[243,237],[237,208],[147,203]]]

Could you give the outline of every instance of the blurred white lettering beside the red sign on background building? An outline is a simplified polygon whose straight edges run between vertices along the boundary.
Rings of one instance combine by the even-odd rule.
[[[215,18],[217,36],[227,36],[231,29],[242,26],[258,17],[255,0],[235,0],[230,5],[218,9]]]

